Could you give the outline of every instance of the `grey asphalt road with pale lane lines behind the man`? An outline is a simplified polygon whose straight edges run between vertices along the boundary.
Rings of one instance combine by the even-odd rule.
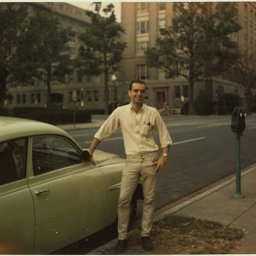
[[[236,173],[237,139],[231,131],[229,115],[163,116],[163,119],[173,139],[173,145],[165,169],[158,174],[155,209],[163,208]],[[98,129],[87,129],[69,133],[82,147],[88,148],[97,131]],[[255,163],[255,132],[256,115],[253,114],[246,117],[246,129],[240,138],[241,169]],[[157,135],[155,139],[158,141]],[[121,131],[113,133],[98,149],[125,157]],[[142,203],[139,204],[138,218],[141,217],[141,208]],[[98,240],[97,236],[94,240]],[[69,254],[73,253],[69,251]]]

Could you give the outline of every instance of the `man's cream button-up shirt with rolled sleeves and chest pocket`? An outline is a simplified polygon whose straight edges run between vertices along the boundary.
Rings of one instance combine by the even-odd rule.
[[[126,155],[153,152],[158,150],[154,132],[159,133],[161,147],[172,144],[171,136],[163,119],[155,108],[143,105],[139,112],[134,112],[131,104],[118,107],[102,124],[94,135],[102,141],[121,127]]]

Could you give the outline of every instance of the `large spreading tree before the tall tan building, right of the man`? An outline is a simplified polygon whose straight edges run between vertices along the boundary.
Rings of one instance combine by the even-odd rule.
[[[145,51],[149,67],[163,69],[170,78],[188,80],[189,114],[195,113],[195,83],[218,75],[236,58],[236,45],[229,38],[240,29],[234,4],[217,3],[213,13],[211,5],[174,3],[172,26],[160,29],[155,47]]]

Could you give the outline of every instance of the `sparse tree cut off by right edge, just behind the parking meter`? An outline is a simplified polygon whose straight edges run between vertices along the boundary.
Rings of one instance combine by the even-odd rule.
[[[256,56],[240,51],[240,58],[235,62],[239,73],[239,82],[246,95],[246,113],[251,115],[252,89],[256,88]]]

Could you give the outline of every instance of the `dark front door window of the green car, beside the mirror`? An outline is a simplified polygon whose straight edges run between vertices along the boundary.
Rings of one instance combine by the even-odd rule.
[[[82,162],[80,152],[67,139],[44,135],[33,138],[32,162],[34,176]]]

